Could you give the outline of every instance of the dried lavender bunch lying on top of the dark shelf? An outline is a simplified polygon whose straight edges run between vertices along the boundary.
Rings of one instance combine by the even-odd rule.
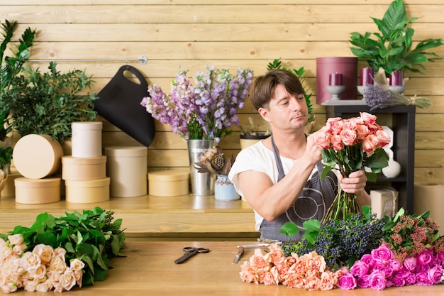
[[[420,108],[431,106],[431,99],[426,97],[407,97],[391,89],[385,89],[381,85],[368,84],[364,93],[364,99],[370,110],[387,108],[399,105],[416,105]]]

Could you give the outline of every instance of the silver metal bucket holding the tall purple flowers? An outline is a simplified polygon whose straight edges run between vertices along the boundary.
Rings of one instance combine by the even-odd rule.
[[[188,140],[188,156],[189,156],[189,175],[192,184],[192,193],[194,195],[212,195],[214,194],[214,182],[216,175],[210,172],[198,172],[194,168],[194,163],[199,162],[201,153],[206,148],[216,146],[214,140]]]

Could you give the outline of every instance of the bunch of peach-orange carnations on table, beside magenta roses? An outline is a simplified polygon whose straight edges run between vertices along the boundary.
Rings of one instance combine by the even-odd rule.
[[[331,290],[338,287],[338,278],[343,275],[339,269],[333,273],[326,266],[323,256],[315,251],[297,256],[284,256],[277,244],[270,245],[270,252],[264,253],[260,248],[250,260],[241,265],[240,278],[247,283],[265,285],[286,285],[306,290]]]

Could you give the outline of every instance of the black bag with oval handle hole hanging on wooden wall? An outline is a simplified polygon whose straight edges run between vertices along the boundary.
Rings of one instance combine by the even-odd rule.
[[[135,83],[124,76],[129,71],[137,77]],[[122,66],[102,89],[94,101],[94,109],[104,119],[120,128],[144,146],[150,146],[155,135],[154,120],[144,106],[140,105],[147,97],[148,83],[135,67]]]

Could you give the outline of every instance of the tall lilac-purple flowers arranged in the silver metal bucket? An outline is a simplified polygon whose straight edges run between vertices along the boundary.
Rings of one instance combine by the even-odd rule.
[[[253,72],[239,67],[236,75],[231,75],[228,69],[210,66],[196,73],[194,84],[187,72],[177,73],[170,95],[155,84],[148,86],[150,95],[140,104],[185,140],[221,141],[231,133],[231,126],[239,126],[236,114],[245,104]]]

